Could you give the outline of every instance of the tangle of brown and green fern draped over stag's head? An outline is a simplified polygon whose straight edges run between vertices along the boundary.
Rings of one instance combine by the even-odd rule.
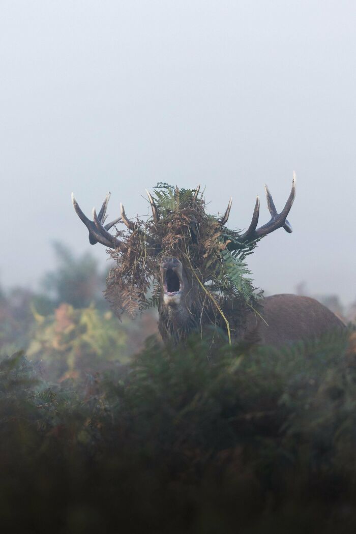
[[[194,190],[159,184],[154,191],[159,220],[148,218],[144,222],[137,219],[135,230],[117,232],[126,248],[124,253],[120,250],[108,251],[115,266],[110,269],[105,296],[119,317],[123,312],[135,317],[138,312],[157,304],[159,264],[160,258],[165,255],[185,257],[187,266],[194,269],[199,283],[202,287],[209,287],[210,293],[216,293],[217,301],[219,295],[236,302],[239,300],[238,285],[232,281],[236,282],[247,271],[241,269],[239,272],[239,263],[230,261],[230,253],[226,250],[228,242],[236,242],[239,233],[221,227],[216,217],[205,212],[203,195],[197,198],[193,195]],[[250,250],[251,244],[246,248]],[[243,253],[241,247],[231,257],[236,258]],[[149,296],[152,284],[156,289]],[[252,301],[254,288],[251,286],[249,292],[248,285],[243,287],[246,289],[243,299]]]

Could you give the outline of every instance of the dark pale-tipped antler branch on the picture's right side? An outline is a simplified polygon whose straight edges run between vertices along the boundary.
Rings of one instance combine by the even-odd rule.
[[[268,223],[256,229],[256,226],[258,223],[258,216],[259,216],[259,198],[257,197],[254,214],[252,215],[252,221],[250,223],[250,226],[246,230],[246,232],[240,235],[239,240],[241,241],[254,241],[255,239],[262,238],[265,235],[271,232],[274,232],[274,230],[277,230],[278,228],[282,228],[282,227],[288,233],[291,233],[293,231],[290,223],[287,221],[287,215],[289,214],[290,208],[292,207],[292,204],[294,202],[295,195],[296,195],[295,173],[293,173],[292,189],[290,191],[289,198],[286,202],[286,205],[282,209],[281,213],[278,213],[278,211],[276,210],[273,199],[272,199],[272,195],[266,185],[265,185],[265,190],[266,190],[267,206],[268,206],[268,210],[270,210],[271,219],[270,221],[268,221]]]

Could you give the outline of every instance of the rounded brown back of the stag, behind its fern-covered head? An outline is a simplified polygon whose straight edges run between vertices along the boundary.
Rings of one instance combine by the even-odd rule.
[[[315,339],[330,330],[345,328],[335,313],[310,297],[290,294],[266,297],[264,320],[250,313],[246,324],[247,340],[271,345]]]

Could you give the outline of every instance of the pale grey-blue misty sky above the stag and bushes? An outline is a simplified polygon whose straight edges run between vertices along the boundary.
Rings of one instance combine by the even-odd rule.
[[[35,287],[53,240],[105,264],[72,191],[132,217],[158,181],[201,183],[243,228],[295,170],[294,232],[250,256],[256,284],[355,300],[355,27],[340,0],[1,0],[1,284]]]

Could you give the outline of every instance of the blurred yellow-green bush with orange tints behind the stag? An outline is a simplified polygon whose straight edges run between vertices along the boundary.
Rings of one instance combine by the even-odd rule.
[[[125,329],[110,311],[61,304],[54,315],[43,317],[35,311],[34,315],[36,326],[27,355],[42,361],[51,379],[102,371],[110,362],[127,360]]]

